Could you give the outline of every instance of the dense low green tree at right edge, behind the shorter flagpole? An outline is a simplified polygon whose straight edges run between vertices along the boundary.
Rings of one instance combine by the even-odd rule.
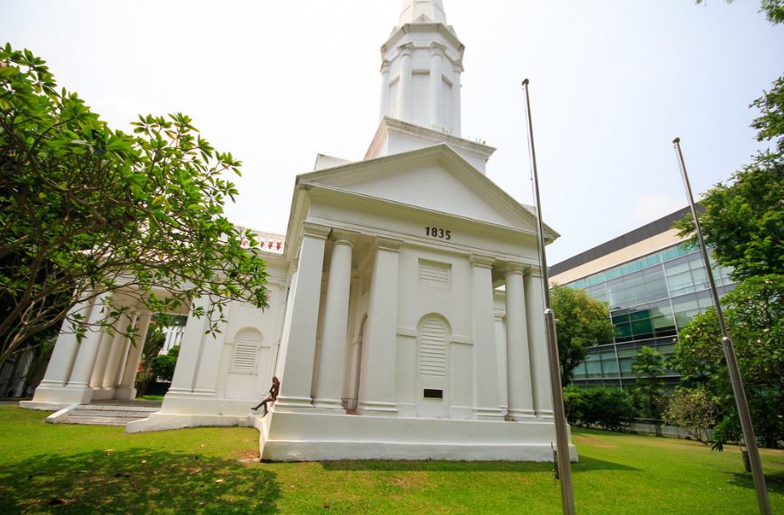
[[[751,277],[722,299],[756,435],[766,447],[784,441],[784,276]],[[686,386],[719,399],[727,417],[733,394],[716,312],[695,316],[681,330],[674,363]]]

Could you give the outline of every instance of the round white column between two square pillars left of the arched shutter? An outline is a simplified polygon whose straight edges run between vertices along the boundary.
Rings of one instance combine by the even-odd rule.
[[[341,410],[348,330],[348,303],[352,279],[352,248],[359,233],[332,230],[332,261],[329,264],[324,328],[321,335],[319,372],[316,375],[314,408]]]

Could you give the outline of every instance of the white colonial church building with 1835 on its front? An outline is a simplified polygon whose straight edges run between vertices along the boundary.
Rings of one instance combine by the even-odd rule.
[[[161,409],[127,432],[255,425],[272,460],[552,460],[535,214],[487,178],[495,149],[460,136],[463,50],[441,0],[404,2],[365,158],[320,155],[286,236],[260,233],[269,308],[232,304],[215,337],[189,318]],[[144,334],[132,308],[119,323]],[[63,332],[23,404],[133,399],[140,347]]]

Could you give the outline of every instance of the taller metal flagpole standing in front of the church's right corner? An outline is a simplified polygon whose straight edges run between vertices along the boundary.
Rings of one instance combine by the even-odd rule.
[[[547,274],[547,256],[544,254],[544,229],[542,225],[542,201],[539,199],[539,174],[536,169],[534,149],[534,125],[531,121],[531,99],[528,95],[528,79],[523,81],[526,90],[526,119],[528,122],[528,149],[534,170],[534,191],[536,200],[536,227],[539,231],[539,263],[542,268],[542,289],[544,290],[544,324],[547,337],[547,355],[550,359],[550,389],[552,390],[552,416],[556,437],[556,467],[561,483],[561,503],[566,515],[574,515],[574,495],[572,493],[572,464],[569,461],[569,439],[566,433],[566,413],[564,394],[561,390],[561,371],[558,363],[558,337],[555,329],[555,313],[550,305],[550,281]]]

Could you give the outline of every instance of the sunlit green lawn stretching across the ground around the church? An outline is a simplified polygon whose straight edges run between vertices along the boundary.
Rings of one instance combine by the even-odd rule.
[[[550,464],[259,464],[258,433],[199,428],[125,434],[44,424],[0,406],[0,512],[558,513]],[[578,513],[756,513],[737,449],[574,430]],[[774,513],[784,451],[763,450]]]

